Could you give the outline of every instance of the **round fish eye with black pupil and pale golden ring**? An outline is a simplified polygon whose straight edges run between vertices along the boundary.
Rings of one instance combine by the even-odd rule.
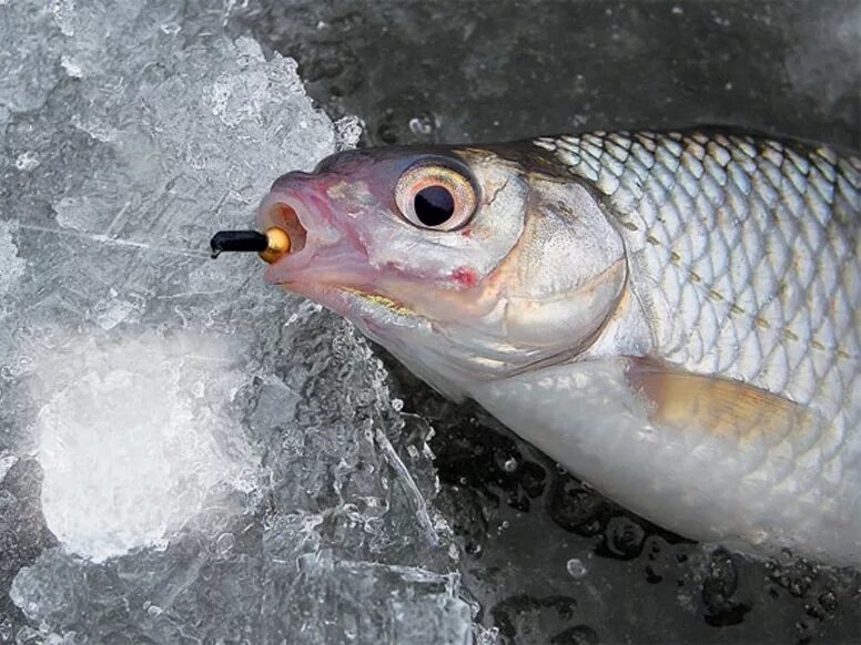
[[[446,165],[423,164],[401,176],[395,203],[406,221],[419,228],[454,231],[469,222],[478,198],[464,173]]]

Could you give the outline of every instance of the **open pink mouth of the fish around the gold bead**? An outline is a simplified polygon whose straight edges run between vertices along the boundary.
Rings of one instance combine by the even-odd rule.
[[[344,225],[346,224],[346,225]],[[409,315],[412,308],[387,293],[394,276],[373,267],[359,235],[350,222],[340,223],[316,191],[273,191],[263,198],[257,226],[282,228],[291,239],[290,253],[273,263],[267,281],[315,300],[342,315],[384,308]],[[389,285],[391,286],[391,285]]]

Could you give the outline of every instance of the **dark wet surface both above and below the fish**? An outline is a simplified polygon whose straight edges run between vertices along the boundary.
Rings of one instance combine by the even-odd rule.
[[[861,150],[857,1],[304,0],[233,28],[294,57],[331,115],[365,121],[366,144],[705,123]],[[395,373],[437,431],[437,502],[504,642],[861,641],[858,573],[667,534]]]

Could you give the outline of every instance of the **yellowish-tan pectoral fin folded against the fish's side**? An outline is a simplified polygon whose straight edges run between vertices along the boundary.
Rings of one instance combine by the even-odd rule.
[[[784,437],[819,421],[808,407],[754,386],[688,372],[649,358],[630,358],[626,378],[652,422],[697,428],[726,438]]]

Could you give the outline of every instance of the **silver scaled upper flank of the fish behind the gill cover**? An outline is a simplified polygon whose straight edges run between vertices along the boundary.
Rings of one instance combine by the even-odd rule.
[[[858,158],[703,133],[536,143],[619,217],[656,356],[858,419]]]

